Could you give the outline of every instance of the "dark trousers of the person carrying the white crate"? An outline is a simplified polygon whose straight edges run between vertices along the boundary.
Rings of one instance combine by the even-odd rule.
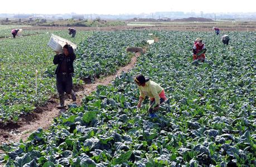
[[[71,90],[73,87],[71,73],[70,74],[57,73],[56,81],[57,81],[56,82],[57,91],[60,95],[63,95],[64,92],[66,92],[66,94],[71,94]]]

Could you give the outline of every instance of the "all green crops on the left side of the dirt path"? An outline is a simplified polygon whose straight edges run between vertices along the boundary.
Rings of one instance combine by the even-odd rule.
[[[44,105],[56,92],[56,66],[52,63],[55,53],[47,46],[51,33],[70,38],[65,31],[42,31],[36,36],[0,41],[0,45],[5,46],[0,51],[0,123],[18,121],[21,115]],[[112,74],[119,66],[129,63],[132,55],[125,52],[125,48],[141,45],[143,33],[133,32],[129,38],[128,35],[125,31],[98,32],[93,36],[90,32],[79,32],[78,37],[70,38],[74,43],[83,41],[77,51],[75,84],[83,83],[86,78],[93,81],[95,77]],[[120,41],[109,42],[117,38]],[[36,70],[39,71],[37,95]]]

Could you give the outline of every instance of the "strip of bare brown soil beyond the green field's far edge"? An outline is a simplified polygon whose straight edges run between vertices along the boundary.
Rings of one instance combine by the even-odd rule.
[[[118,30],[166,30],[166,31],[210,31],[212,27],[221,31],[256,31],[256,22],[166,22],[152,23],[152,26],[109,26],[109,27],[74,27],[80,31],[118,31]],[[67,27],[33,26],[23,30],[67,30]]]

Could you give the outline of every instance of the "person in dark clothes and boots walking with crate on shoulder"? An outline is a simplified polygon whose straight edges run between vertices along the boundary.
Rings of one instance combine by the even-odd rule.
[[[73,48],[66,43],[63,47],[63,53],[56,52],[54,56],[54,64],[58,65],[56,74],[56,86],[60,97],[60,106],[57,107],[62,109],[65,107],[65,96],[66,94],[71,94],[72,100],[76,101],[76,96],[73,88],[72,73],[74,73],[73,62],[76,58]]]

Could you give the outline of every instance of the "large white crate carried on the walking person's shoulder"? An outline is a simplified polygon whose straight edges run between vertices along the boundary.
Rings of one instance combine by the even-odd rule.
[[[50,41],[48,42],[48,46],[50,46],[54,51],[63,52],[63,47],[66,45],[66,42],[73,47],[73,50],[76,50],[76,45],[69,40],[51,34]]]

